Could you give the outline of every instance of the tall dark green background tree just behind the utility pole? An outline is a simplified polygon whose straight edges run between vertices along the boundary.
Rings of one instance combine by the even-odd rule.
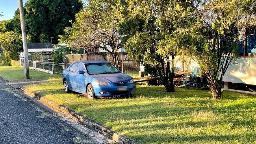
[[[83,7],[81,0],[29,0],[24,7],[29,42],[57,42],[64,28],[74,21]],[[19,9],[15,11],[14,30],[20,32]]]

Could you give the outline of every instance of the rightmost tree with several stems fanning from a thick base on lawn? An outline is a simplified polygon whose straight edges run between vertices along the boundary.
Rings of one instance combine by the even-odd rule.
[[[255,26],[255,9],[253,0],[200,1],[196,6],[187,40],[210,82],[213,99],[222,97],[223,76],[245,41],[245,30]]]

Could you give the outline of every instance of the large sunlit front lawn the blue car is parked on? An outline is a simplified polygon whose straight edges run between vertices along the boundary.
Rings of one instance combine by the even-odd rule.
[[[54,87],[52,87],[54,85]],[[143,144],[256,143],[256,98],[224,91],[137,85],[134,98],[88,100],[63,91],[61,79],[26,86]]]

